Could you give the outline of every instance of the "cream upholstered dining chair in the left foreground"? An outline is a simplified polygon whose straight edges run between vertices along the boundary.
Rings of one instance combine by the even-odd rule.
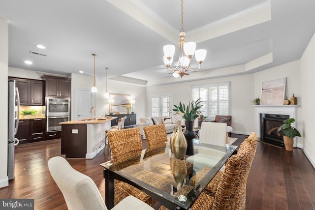
[[[107,210],[94,181],[74,170],[63,157],[50,158],[48,168],[69,210]],[[126,209],[154,210],[133,196],[127,196],[112,210]]]

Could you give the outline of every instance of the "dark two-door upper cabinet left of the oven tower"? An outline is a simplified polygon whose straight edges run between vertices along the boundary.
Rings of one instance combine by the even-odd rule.
[[[43,81],[21,78],[15,79],[16,87],[20,93],[21,106],[42,106],[44,105]]]

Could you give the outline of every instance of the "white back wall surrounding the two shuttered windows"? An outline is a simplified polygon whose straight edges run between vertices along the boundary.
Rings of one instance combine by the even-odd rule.
[[[231,115],[233,132],[239,134],[250,134],[254,131],[254,81],[252,74],[198,80],[194,82],[175,83],[170,85],[147,87],[147,110],[150,116],[150,96],[158,94],[172,94],[173,103],[188,103],[190,100],[190,86],[196,84],[209,84],[217,82],[231,82]]]

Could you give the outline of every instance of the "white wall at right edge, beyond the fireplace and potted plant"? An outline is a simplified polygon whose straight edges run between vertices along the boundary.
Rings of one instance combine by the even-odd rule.
[[[301,58],[301,110],[300,124],[302,129],[299,129],[302,135],[304,152],[315,167],[315,141],[313,137],[313,126],[315,119],[315,35],[311,39],[304,54]],[[301,139],[301,137],[299,137]]]

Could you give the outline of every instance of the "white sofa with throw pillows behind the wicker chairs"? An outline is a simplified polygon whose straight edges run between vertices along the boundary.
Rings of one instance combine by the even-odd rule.
[[[173,115],[171,117],[148,117],[140,118],[138,122],[138,127],[140,128],[141,136],[144,137],[143,127],[154,125],[154,124],[164,124],[166,133],[173,132],[173,128],[178,126],[178,121],[181,121],[181,125],[185,125],[185,119],[180,115]]]

